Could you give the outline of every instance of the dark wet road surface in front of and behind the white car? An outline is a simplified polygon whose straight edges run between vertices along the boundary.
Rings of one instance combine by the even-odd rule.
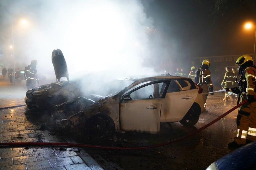
[[[232,107],[236,101],[223,102],[224,94],[209,95],[208,113],[200,116],[194,127],[180,123],[162,123],[160,135],[123,132],[116,134],[116,146],[145,146],[159,144],[194,132],[210,123]],[[97,155],[123,169],[206,169],[212,162],[231,152],[227,144],[233,141],[236,131],[237,110],[210,127],[179,142],[144,150],[87,150],[95,160]]]

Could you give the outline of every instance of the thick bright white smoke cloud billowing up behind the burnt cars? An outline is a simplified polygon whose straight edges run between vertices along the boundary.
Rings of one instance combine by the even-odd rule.
[[[38,60],[38,73],[54,75],[51,52],[59,48],[70,80],[90,74],[100,80],[157,74],[143,66],[157,65],[154,57],[161,50],[152,45],[159,37],[152,38],[153,19],[139,0],[21,0],[1,5],[8,5],[13,18],[27,19],[24,28],[14,25],[16,60],[20,65]],[[84,80],[87,85],[98,83],[90,77]]]

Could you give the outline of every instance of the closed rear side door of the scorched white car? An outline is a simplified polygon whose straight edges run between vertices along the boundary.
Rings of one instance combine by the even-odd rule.
[[[193,105],[197,94],[195,85],[189,79],[171,80],[162,103],[160,122],[180,121]]]

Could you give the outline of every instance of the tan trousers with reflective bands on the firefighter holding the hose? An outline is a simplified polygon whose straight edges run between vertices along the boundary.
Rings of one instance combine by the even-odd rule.
[[[240,102],[246,100],[246,95],[241,95]],[[256,100],[240,106],[236,119],[237,131],[235,142],[245,144],[246,139],[256,141]]]

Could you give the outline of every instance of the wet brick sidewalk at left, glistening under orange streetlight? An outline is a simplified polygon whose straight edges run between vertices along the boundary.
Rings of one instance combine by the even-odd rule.
[[[0,77],[0,108],[24,103],[26,90]],[[72,138],[40,130],[38,113],[25,107],[0,110],[0,142],[75,142]],[[39,115],[40,116],[40,115]],[[0,170],[100,170],[101,166],[83,149],[60,147],[0,148]]]

